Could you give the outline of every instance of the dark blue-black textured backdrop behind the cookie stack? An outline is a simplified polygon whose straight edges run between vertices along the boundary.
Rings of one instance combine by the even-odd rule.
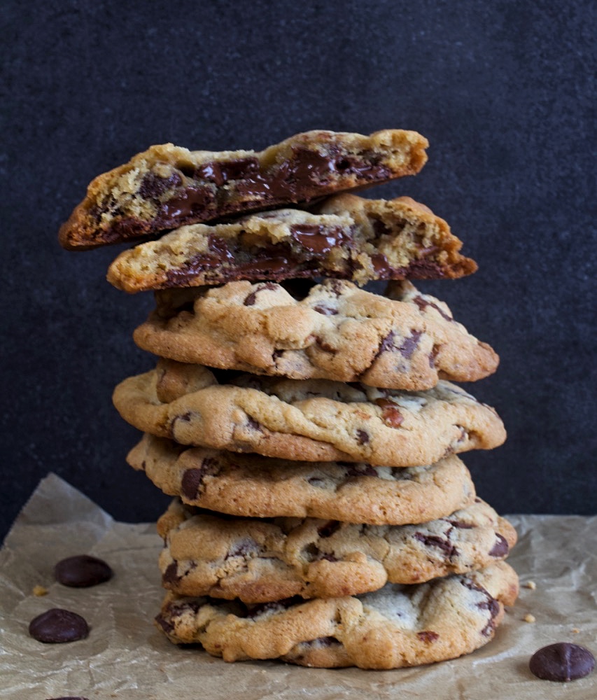
[[[423,172],[374,196],[428,204],[479,262],[425,287],[502,359],[468,385],[509,431],[465,456],[477,489],[501,512],[594,512],[590,5],[5,0],[0,534],[49,471],[118,519],[168,500],[125,464],[139,435],[111,405],[153,364],[131,339],[151,297],[105,281],[120,248],[57,244],[87,183],[150,144],[311,128],[428,137]]]

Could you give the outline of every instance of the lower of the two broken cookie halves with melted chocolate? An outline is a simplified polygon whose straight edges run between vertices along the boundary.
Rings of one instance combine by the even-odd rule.
[[[330,213],[275,209],[183,226],[120,253],[108,281],[133,293],[237,279],[456,278],[477,269],[447,223],[409,197],[338,195],[321,211]]]

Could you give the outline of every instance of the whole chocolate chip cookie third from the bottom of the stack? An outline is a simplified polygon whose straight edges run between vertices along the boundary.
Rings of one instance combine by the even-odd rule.
[[[146,434],[127,461],[188,505],[246,517],[398,525],[444,517],[475,499],[470,473],[456,455],[411,468],[297,462],[183,447]]]

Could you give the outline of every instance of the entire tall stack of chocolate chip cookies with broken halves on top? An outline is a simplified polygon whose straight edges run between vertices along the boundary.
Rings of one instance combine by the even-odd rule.
[[[415,666],[483,645],[514,602],[516,533],[459,456],[505,430],[453,384],[498,357],[412,282],[477,266],[423,205],[353,193],[416,174],[427,145],[384,130],[153,146],[62,227],[73,250],[136,239],[108,280],[155,291],[134,339],[157,366],[114,403],[144,433],[129,463],[176,497],[157,524],[174,643]],[[363,290],[376,280],[384,294]]]

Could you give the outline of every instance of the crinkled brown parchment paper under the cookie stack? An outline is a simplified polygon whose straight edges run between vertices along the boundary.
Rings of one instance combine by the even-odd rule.
[[[156,514],[156,519],[160,514]],[[510,516],[519,544],[510,563],[521,595],[496,637],[453,661],[395,671],[322,670],[277,661],[226,664],[200,648],[176,647],[153,626],[162,600],[155,524],[115,522],[55,475],[39,484],[0,551],[0,697],[36,700],[589,700],[597,671],[569,683],[538,680],[528,659],[570,641],[597,654],[597,517]],[[71,589],[53,580],[59,559],[94,554],[109,582]],[[536,589],[525,587],[528,581]],[[35,586],[48,589],[35,596]],[[27,633],[49,608],[83,615],[90,636],[48,645]],[[531,614],[535,622],[525,622]]]

